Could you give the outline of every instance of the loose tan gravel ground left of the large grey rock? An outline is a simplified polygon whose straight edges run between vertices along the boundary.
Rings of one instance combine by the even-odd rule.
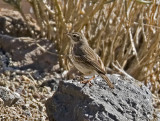
[[[11,106],[4,105],[0,96],[0,119],[11,120],[37,120],[47,121],[45,101],[52,96],[54,91],[45,86],[46,80],[52,81],[59,74],[42,73],[36,70],[18,70],[13,67],[9,53],[0,51],[0,86],[9,89],[20,96],[20,99]],[[53,90],[53,89],[52,89]]]

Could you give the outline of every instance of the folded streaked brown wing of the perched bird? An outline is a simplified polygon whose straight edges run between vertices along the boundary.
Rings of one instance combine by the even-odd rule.
[[[88,46],[83,46],[81,49],[83,51],[82,56],[79,58],[80,61],[85,62],[95,69],[97,72],[106,74],[104,65],[100,57]]]

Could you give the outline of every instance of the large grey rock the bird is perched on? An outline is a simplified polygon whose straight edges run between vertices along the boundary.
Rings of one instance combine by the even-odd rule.
[[[93,86],[61,81],[46,102],[50,121],[148,121],[152,119],[152,94],[142,83],[108,75],[115,89],[101,78]]]

